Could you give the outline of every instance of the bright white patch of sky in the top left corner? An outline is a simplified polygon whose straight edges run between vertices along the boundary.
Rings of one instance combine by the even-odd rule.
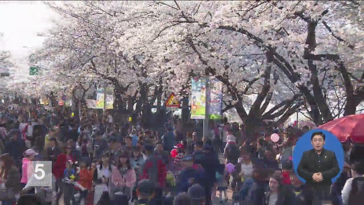
[[[29,76],[27,58],[43,46],[37,33],[47,33],[56,18],[41,1],[0,1],[0,50],[10,51],[18,79]]]

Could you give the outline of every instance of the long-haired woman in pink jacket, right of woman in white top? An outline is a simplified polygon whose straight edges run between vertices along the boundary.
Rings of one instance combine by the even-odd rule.
[[[129,155],[123,152],[119,155],[116,166],[111,174],[111,200],[116,192],[123,192],[131,197],[132,189],[137,181],[134,169],[131,167]]]

